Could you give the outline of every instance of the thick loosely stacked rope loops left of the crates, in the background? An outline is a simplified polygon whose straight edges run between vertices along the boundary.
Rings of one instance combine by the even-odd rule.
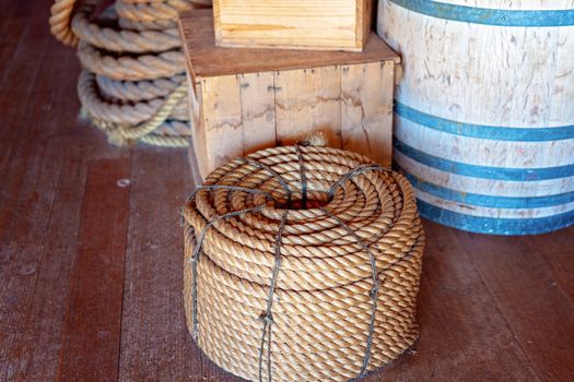
[[[210,0],[56,0],[52,34],[77,46],[83,110],[110,143],[188,145],[185,56],[177,13]]]

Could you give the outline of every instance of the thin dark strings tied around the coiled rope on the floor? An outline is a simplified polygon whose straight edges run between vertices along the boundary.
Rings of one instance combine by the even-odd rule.
[[[303,208],[306,207],[307,202],[307,178],[306,178],[306,168],[305,163],[303,160],[303,155],[300,150],[300,145],[295,145],[295,152],[297,155],[297,160],[300,165],[300,176],[301,176],[301,183],[302,183],[302,204]],[[270,278],[270,285],[269,285],[269,296],[267,300],[267,308],[265,312],[260,315],[260,320],[263,322],[263,329],[261,334],[261,346],[259,348],[259,381],[262,382],[263,375],[263,353],[265,353],[265,343],[266,343],[266,335],[267,335],[267,371],[268,371],[268,380],[272,381],[272,373],[271,373],[271,341],[272,341],[272,324],[274,323],[273,320],[273,313],[272,313],[272,307],[273,307],[273,295],[277,286],[277,278],[279,275],[279,271],[281,268],[281,246],[282,246],[282,237],[283,237],[283,230],[289,217],[289,208],[292,204],[292,195],[293,191],[289,187],[288,182],[281,177],[279,172],[273,170],[271,167],[269,167],[266,164],[262,164],[260,162],[249,159],[249,158],[243,158],[243,162],[249,165],[253,165],[255,167],[258,167],[260,169],[263,169],[271,174],[273,178],[276,178],[281,187],[285,190],[286,196],[288,196],[288,207],[283,211],[283,214],[281,216],[281,220],[279,224],[279,229],[276,236],[276,241],[273,246],[273,252],[274,252],[274,264],[273,264],[273,272]],[[367,172],[367,171],[390,171],[388,168],[380,166],[380,165],[361,165],[349,171],[347,175],[344,175],[341,179],[339,179],[328,191],[329,200],[332,200],[335,192],[338,188],[344,184],[344,182],[351,180],[353,177]],[[198,186],[196,190],[189,195],[188,203],[192,201],[197,193],[201,190],[227,190],[227,191],[241,191],[241,192],[247,192],[250,194],[261,194],[266,198],[267,201],[273,201],[278,202],[270,193],[262,191],[262,190],[254,190],[243,187],[236,187],[236,186],[221,186],[221,184],[213,184],[213,186]],[[197,238],[196,247],[194,248],[194,252],[191,254],[191,266],[192,266],[192,285],[191,285],[191,310],[192,310],[192,336],[196,343],[198,343],[199,339],[199,329],[198,329],[198,320],[197,320],[197,266],[200,259],[201,253],[201,247],[203,244],[203,239],[207,236],[207,231],[210,227],[212,227],[215,223],[225,220],[232,217],[239,216],[245,213],[257,213],[262,211],[266,207],[266,204],[256,205],[254,207],[241,210],[241,211],[234,211],[224,215],[219,215],[213,217],[211,220],[208,222],[206,227],[201,230],[199,237]],[[370,291],[370,297],[373,300],[372,303],[372,310],[371,310],[371,321],[368,325],[368,335],[366,338],[366,346],[365,346],[365,355],[363,357],[363,366],[361,368],[361,371],[359,373],[359,378],[364,375],[366,372],[366,369],[368,367],[368,361],[371,359],[371,353],[373,347],[373,335],[375,330],[375,319],[376,319],[376,309],[377,309],[377,298],[378,298],[378,291],[380,288],[380,280],[378,278],[378,270],[376,266],[376,259],[374,253],[371,251],[368,246],[361,240],[359,235],[352,230],[347,223],[341,220],[336,215],[331,214],[327,208],[321,208],[321,211],[330,218],[335,219],[337,224],[339,224],[344,230],[349,232],[350,236],[354,238],[356,243],[368,254],[370,263],[371,263],[371,272],[372,272],[372,278],[373,278],[373,288]]]

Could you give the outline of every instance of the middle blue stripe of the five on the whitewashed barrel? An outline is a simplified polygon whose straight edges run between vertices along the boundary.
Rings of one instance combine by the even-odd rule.
[[[546,168],[506,168],[469,165],[460,162],[444,159],[426,154],[420,150],[409,146],[397,138],[394,140],[397,151],[425,166],[442,171],[462,175],[473,178],[511,180],[511,181],[537,181],[574,176],[574,165],[546,167]]]

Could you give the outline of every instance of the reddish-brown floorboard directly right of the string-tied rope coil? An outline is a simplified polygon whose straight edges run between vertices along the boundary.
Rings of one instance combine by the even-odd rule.
[[[386,375],[399,381],[538,380],[454,231],[429,222],[424,227],[421,335],[415,353],[408,351]]]

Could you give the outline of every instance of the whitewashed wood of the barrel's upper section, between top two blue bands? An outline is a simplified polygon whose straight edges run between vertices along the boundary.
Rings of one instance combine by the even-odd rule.
[[[574,8],[572,0],[442,2],[514,11]],[[406,68],[398,99],[468,123],[572,124],[574,110],[567,107],[574,97],[569,59],[574,49],[572,29],[467,24],[408,11],[388,0],[379,2],[378,33],[401,53]]]

